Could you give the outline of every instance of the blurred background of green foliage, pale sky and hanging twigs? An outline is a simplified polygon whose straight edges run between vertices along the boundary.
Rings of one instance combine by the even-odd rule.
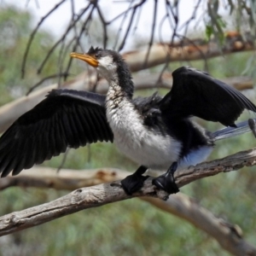
[[[104,87],[98,84],[104,85],[104,81],[86,64],[69,58],[70,52],[85,52],[90,45],[118,50],[131,61],[138,81],[136,96],[151,95],[155,90],[165,94],[172,87],[172,71],[189,65],[242,90],[255,103],[255,9],[256,4],[246,0],[2,0],[0,119],[5,114],[9,120],[4,124],[0,121],[1,131],[15,119],[15,113],[12,115],[6,108],[13,105],[6,104],[15,104],[34,85],[38,91],[52,84],[73,86],[76,81],[76,89],[103,93]],[[137,67],[132,66],[132,61],[139,63]],[[153,78],[148,86],[142,81],[146,77]],[[27,108],[31,107],[24,103],[20,111]],[[240,120],[252,117],[252,113],[244,113]],[[209,131],[222,128],[198,122]],[[255,143],[252,134],[218,142],[209,160],[253,148]],[[70,149],[65,157],[61,154],[43,166],[73,170],[109,167],[131,172],[137,169],[111,143]],[[215,216],[237,224],[244,239],[255,244],[255,184],[255,167],[250,167],[198,180],[181,192]],[[0,215],[53,201],[68,192],[24,186],[4,188],[0,191]],[[195,224],[140,199],[77,212],[0,237],[0,255],[4,256],[155,254],[230,255]]]

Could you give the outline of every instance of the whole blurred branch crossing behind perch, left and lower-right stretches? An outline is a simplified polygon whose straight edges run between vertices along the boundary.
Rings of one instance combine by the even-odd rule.
[[[130,172],[109,168],[56,172],[55,169],[37,166],[21,172],[18,176],[8,176],[0,179],[0,190],[11,186],[79,189],[122,179],[129,174]],[[216,239],[221,247],[234,255],[243,255],[250,247],[246,241],[242,240],[239,226],[229,224],[224,219],[215,217],[212,212],[201,207],[195,200],[183,195],[183,193],[172,195],[167,201],[160,201],[153,197],[141,197],[140,199],[189,221],[190,224],[195,225],[196,228]]]

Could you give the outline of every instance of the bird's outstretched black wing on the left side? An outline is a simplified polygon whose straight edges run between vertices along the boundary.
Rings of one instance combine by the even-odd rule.
[[[97,141],[113,142],[105,96],[78,90],[52,90],[0,138],[0,173],[16,175],[65,152]]]

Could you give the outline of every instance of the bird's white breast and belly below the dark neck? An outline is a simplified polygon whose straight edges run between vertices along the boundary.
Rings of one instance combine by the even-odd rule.
[[[114,108],[117,103],[118,108]],[[127,99],[114,102],[109,100],[108,95],[107,116],[114,143],[131,160],[149,168],[166,170],[178,159],[181,143],[147,129],[142,117]]]

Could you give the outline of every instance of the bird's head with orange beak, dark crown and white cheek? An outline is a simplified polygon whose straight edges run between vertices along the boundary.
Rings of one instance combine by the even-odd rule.
[[[111,49],[93,48],[84,54],[71,53],[71,57],[87,62],[107,80],[115,76],[120,64],[124,65],[124,61],[119,53]]]

